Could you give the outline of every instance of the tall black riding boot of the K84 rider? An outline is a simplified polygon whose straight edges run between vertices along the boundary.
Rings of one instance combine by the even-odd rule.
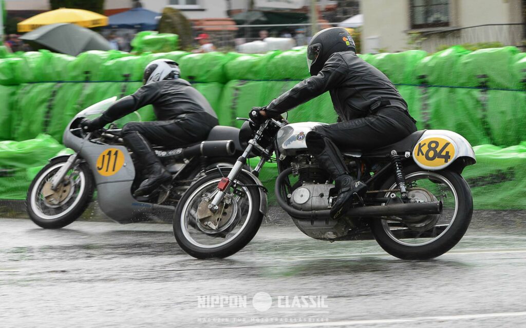
[[[353,195],[363,196],[367,192],[367,185],[352,178],[347,172],[343,156],[332,141],[317,132],[307,134],[307,147],[316,156],[321,166],[325,168],[335,181],[338,198],[332,204],[330,216],[340,218],[352,206]]]

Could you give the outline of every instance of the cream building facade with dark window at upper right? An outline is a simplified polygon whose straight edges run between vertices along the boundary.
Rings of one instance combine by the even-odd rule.
[[[523,46],[525,0],[361,0],[363,52],[464,43]]]

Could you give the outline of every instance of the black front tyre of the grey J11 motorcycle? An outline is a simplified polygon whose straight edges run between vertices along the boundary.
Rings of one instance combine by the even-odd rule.
[[[89,167],[86,163],[81,163],[79,168],[80,171],[84,174],[85,177],[85,186],[84,191],[82,195],[79,195],[78,202],[72,206],[72,209],[68,211],[63,216],[60,216],[58,218],[53,219],[46,219],[39,215],[35,208],[35,203],[32,203],[31,197],[33,193],[33,189],[36,186],[36,183],[38,182],[39,178],[46,173],[49,168],[52,168],[60,163],[65,163],[68,160],[68,157],[59,157],[55,158],[54,160],[50,161],[49,164],[44,166],[44,168],[38,172],[36,177],[33,179],[33,182],[29,186],[29,189],[27,191],[27,197],[26,197],[26,210],[27,214],[29,215],[29,218],[39,227],[45,228],[45,229],[59,229],[63,228],[75,221],[77,218],[80,217],[88,207],[89,203],[92,201],[93,193],[95,189],[95,183],[93,181],[93,175],[92,172],[89,170]]]

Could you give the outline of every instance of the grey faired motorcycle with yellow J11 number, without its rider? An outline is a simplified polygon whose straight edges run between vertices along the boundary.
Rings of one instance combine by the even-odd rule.
[[[26,207],[38,226],[56,229],[69,225],[83,214],[95,189],[100,209],[120,224],[171,220],[175,205],[193,182],[212,168],[232,167],[232,155],[243,150],[239,129],[229,126],[216,126],[206,141],[184,147],[154,145],[172,174],[171,182],[148,196],[134,197],[147,172],[124,146],[119,121],[92,133],[83,132],[79,125],[84,118],[101,115],[116,99],[103,100],[79,112],[64,132],[64,145],[75,153],[50,159],[34,178]]]

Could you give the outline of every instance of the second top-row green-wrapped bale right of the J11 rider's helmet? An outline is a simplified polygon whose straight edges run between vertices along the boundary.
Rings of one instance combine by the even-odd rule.
[[[269,61],[277,54],[276,51],[267,54],[232,55],[225,64],[227,80],[266,80],[271,75]]]

